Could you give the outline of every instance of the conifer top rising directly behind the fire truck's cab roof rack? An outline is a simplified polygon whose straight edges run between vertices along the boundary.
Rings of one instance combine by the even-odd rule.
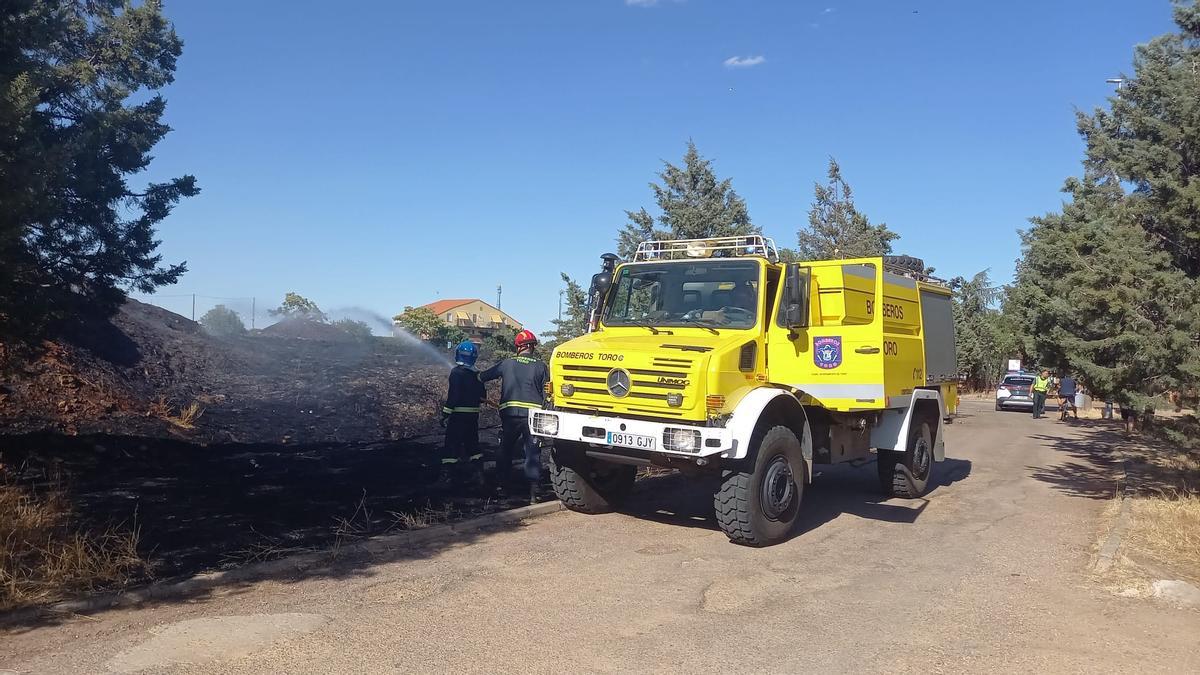
[[[683,165],[662,162],[661,183],[650,183],[661,211],[655,219],[644,208],[625,211],[629,223],[617,235],[617,252],[629,258],[648,239],[702,239],[760,234],[750,222],[746,203],[733,190],[732,180],[720,180],[713,162],[688,142]]]

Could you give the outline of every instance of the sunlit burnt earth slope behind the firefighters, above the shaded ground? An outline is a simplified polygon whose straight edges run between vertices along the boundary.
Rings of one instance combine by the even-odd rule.
[[[448,368],[390,338],[287,321],[215,338],[130,300],[35,347],[0,345],[0,428],[320,443],[436,435]]]

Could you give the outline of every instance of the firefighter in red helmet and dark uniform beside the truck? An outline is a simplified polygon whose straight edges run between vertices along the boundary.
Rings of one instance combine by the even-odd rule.
[[[504,359],[479,374],[481,382],[500,381],[500,423],[504,435],[500,456],[496,460],[498,488],[503,489],[512,468],[512,454],[524,449],[524,477],[529,480],[529,501],[538,501],[538,480],[541,478],[541,447],[529,432],[529,411],[545,405],[545,387],[550,369],[534,356],[538,338],[528,331],[517,333],[514,344],[517,356]]]

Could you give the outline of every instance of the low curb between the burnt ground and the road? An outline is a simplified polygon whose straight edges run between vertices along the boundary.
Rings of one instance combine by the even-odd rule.
[[[235,569],[206,572],[175,581],[151,583],[146,586],[131,591],[121,591],[77,601],[65,601],[47,607],[20,609],[0,616],[0,627],[46,614],[88,614],[100,611],[102,609],[138,605],[150,601],[186,597],[216,589],[221,585],[256,581],[280,573],[305,572],[307,569],[320,567],[335,567],[338,565],[338,558],[347,554],[382,554],[397,549],[419,548],[433,542],[452,539],[455,537],[478,532],[488,527],[512,525],[522,520],[550,515],[552,513],[564,510],[565,508],[566,507],[563,506],[563,502],[551,500],[548,502],[530,504],[527,507],[490,513],[487,515],[472,518],[461,522],[434,525],[433,527],[425,527],[421,530],[372,537],[340,548],[302,552],[265,562],[253,562]]]

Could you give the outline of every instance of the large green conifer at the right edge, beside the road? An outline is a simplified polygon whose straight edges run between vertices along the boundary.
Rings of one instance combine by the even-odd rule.
[[[1084,177],[1022,234],[1006,306],[1038,363],[1138,406],[1200,381],[1200,2],[1175,18],[1109,109],[1079,115]]]

